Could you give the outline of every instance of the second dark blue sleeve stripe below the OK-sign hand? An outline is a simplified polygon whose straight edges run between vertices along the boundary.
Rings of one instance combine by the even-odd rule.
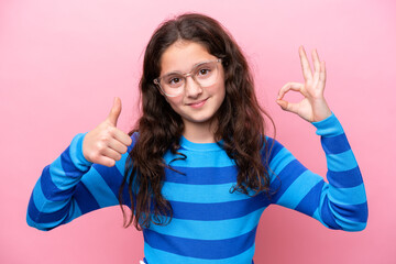
[[[342,172],[328,170],[327,179],[329,180],[329,184],[336,188],[350,188],[359,186],[363,183],[362,174],[359,167]]]

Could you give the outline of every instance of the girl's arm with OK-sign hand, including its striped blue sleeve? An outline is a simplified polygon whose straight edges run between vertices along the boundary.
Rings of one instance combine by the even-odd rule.
[[[324,100],[326,67],[312,52],[314,74],[306,52],[299,47],[299,56],[305,84],[288,82],[279,90],[277,103],[283,110],[296,113],[311,122],[321,135],[326,153],[329,184],[306,169],[286,148],[275,143],[271,165],[279,175],[279,193],[276,204],[305,212],[332,229],[358,231],[365,228],[367,202],[362,176],[337,118]],[[304,99],[298,103],[283,100],[289,90],[298,91]],[[279,184],[279,183],[278,183]],[[273,187],[276,187],[273,182]]]

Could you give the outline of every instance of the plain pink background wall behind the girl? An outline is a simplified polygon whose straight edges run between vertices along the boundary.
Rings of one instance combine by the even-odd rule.
[[[324,175],[314,127],[275,103],[284,84],[302,81],[298,46],[318,48],[327,63],[327,100],[365,180],[370,217],[363,232],[332,231],[271,207],[261,219],[255,262],[396,263],[393,0],[0,1],[0,263],[132,264],[143,256],[142,233],[122,228],[119,207],[51,232],[29,228],[25,212],[43,167],[76,133],[101,122],[113,97],[123,102],[119,127],[132,128],[144,46],[164,19],[185,11],[204,12],[229,29],[251,63],[277,139]]]

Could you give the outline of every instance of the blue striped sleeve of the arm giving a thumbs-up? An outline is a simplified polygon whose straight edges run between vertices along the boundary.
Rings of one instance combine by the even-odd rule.
[[[119,205],[119,186],[134,143],[116,166],[106,167],[84,157],[84,136],[77,134],[62,155],[43,169],[29,201],[29,226],[46,231],[89,211]],[[125,202],[128,197],[124,189]]]

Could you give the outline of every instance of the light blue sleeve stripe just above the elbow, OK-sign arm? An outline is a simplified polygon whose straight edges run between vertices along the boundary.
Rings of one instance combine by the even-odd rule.
[[[360,205],[366,202],[364,185],[351,188],[336,188],[330,185],[329,199],[339,205]]]

